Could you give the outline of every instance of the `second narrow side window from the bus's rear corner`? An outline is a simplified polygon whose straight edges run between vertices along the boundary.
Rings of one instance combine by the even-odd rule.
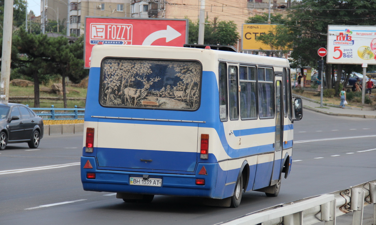
[[[230,120],[239,119],[238,67],[229,66],[229,114]]]

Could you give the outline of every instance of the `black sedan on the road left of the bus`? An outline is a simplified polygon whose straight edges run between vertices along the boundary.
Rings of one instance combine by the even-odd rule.
[[[0,103],[0,150],[7,144],[27,142],[38,148],[43,137],[43,120],[26,105]]]

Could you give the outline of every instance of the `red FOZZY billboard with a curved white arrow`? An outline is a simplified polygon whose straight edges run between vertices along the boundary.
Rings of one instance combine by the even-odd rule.
[[[154,18],[85,18],[85,68],[90,67],[94,45],[183,46],[188,40],[188,20]]]

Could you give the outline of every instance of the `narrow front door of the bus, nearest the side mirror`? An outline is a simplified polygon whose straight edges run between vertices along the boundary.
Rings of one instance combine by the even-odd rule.
[[[283,120],[282,120],[282,82],[276,80],[276,132],[274,144],[274,166],[273,175],[271,180],[278,180],[280,168],[282,163],[282,133],[283,133]],[[273,185],[273,184],[271,184]]]

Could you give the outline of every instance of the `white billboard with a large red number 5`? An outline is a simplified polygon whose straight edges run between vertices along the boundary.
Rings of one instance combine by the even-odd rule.
[[[328,25],[327,63],[376,64],[376,26]]]

